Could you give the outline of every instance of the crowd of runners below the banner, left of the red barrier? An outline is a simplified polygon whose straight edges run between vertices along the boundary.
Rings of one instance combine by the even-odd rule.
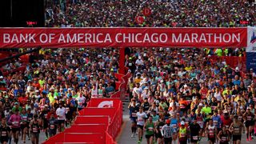
[[[118,50],[40,50],[24,72],[0,76],[1,143],[38,143],[70,126],[90,98],[115,91]]]

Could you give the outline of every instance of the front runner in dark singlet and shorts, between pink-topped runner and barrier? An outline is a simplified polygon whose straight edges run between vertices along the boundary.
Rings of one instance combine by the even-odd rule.
[[[39,134],[42,125],[40,124],[40,120],[38,119],[38,114],[34,114],[32,121],[30,122],[30,131],[31,131],[31,142],[32,144],[39,143]]]

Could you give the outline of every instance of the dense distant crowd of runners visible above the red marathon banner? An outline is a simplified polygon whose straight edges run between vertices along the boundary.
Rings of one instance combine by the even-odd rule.
[[[252,0],[253,1],[253,0]],[[50,27],[242,27],[256,26],[250,0],[47,0]],[[149,8],[151,14],[144,16]],[[142,16],[142,24],[136,17]]]

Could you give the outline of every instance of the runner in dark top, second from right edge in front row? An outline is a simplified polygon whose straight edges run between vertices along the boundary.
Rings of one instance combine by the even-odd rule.
[[[230,133],[233,134],[233,144],[240,144],[241,138],[242,138],[242,130],[243,133],[245,133],[245,126],[242,124],[242,122],[238,121],[238,116],[234,116],[234,122],[230,125]]]

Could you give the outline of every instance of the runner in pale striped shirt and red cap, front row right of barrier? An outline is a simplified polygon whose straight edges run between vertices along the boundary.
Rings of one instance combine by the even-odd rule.
[[[172,139],[176,137],[176,130],[170,125],[170,119],[167,119],[166,125],[162,126],[161,134],[165,144],[171,144]]]

